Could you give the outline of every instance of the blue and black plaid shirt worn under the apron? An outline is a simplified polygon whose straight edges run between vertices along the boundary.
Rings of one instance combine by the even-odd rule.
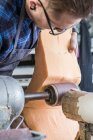
[[[0,0],[0,61],[4,60],[13,50],[22,4],[23,0]],[[35,26],[25,14],[17,49],[33,47],[32,44],[36,42],[40,29],[36,27],[36,34],[32,40],[32,24]]]

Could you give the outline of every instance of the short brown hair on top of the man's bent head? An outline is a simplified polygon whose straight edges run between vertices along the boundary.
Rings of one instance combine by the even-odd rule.
[[[49,0],[55,13],[69,13],[75,17],[86,17],[93,11],[93,0]]]

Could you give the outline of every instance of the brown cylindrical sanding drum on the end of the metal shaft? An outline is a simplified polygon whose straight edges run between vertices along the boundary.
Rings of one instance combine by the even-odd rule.
[[[52,106],[62,105],[62,97],[70,90],[78,90],[78,86],[72,83],[52,84],[45,88],[45,92],[49,94],[46,103]]]

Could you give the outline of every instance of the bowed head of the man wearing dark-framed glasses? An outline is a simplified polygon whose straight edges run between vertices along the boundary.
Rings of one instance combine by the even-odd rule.
[[[67,29],[93,10],[93,0],[26,0],[26,10],[41,28]]]

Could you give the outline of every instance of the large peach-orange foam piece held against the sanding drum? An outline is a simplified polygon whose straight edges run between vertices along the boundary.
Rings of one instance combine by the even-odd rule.
[[[49,84],[75,83],[81,79],[75,53],[69,53],[71,30],[52,36],[41,32],[35,55],[35,70],[27,91],[40,92]],[[41,101],[30,101],[23,115],[29,128],[43,132],[46,140],[74,140],[78,123],[67,119],[61,106],[52,107]]]

